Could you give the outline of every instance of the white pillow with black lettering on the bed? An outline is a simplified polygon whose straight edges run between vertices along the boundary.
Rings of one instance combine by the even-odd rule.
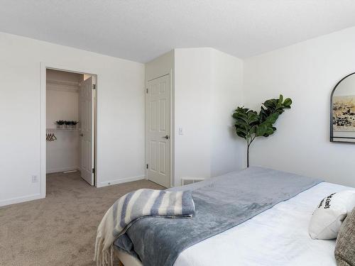
[[[322,199],[310,221],[311,238],[337,238],[342,222],[354,207],[355,190],[334,193]]]

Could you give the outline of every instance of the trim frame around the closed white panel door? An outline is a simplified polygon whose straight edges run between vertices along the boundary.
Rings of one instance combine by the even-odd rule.
[[[175,99],[175,88],[174,88],[174,76],[173,76],[174,72],[173,72],[173,69],[170,69],[169,72],[165,72],[165,74],[158,74],[156,75],[156,77],[153,77],[151,79],[146,79],[146,86],[144,88],[144,94],[145,94],[145,97],[144,97],[144,101],[145,101],[145,105],[146,105],[146,108],[145,108],[145,111],[146,111],[146,115],[145,115],[145,174],[146,174],[146,179],[148,180],[148,169],[146,168],[146,165],[148,164],[148,104],[147,104],[147,101],[148,101],[148,94],[146,93],[146,90],[148,89],[148,82],[150,82],[151,80],[154,80],[154,79],[158,79],[160,77],[164,77],[164,76],[168,76],[169,75],[169,79],[170,79],[170,141],[169,141],[169,145],[170,145],[170,177],[169,177],[169,184],[170,184],[170,187],[175,187],[175,127],[174,127],[174,124],[175,124],[175,120],[174,120],[174,99]]]

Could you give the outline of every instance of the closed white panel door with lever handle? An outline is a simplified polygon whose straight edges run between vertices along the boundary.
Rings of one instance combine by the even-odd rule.
[[[148,82],[146,106],[147,177],[170,187],[170,75]]]

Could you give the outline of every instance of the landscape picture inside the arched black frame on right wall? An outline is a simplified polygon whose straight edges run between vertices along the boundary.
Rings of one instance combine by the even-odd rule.
[[[333,130],[355,132],[355,95],[333,97]]]

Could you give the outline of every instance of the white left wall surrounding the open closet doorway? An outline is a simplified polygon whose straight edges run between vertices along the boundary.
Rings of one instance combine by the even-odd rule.
[[[143,178],[144,65],[0,33],[0,205],[40,197],[40,62],[97,74],[98,185]]]

